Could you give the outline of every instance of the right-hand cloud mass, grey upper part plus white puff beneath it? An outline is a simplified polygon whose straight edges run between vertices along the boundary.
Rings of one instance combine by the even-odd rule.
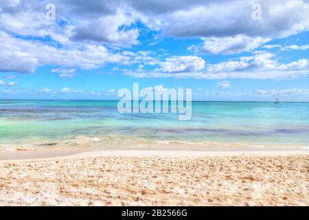
[[[211,54],[248,52],[271,39],[308,30],[307,1],[265,0],[259,3],[261,21],[251,19],[250,1],[204,1],[187,5],[186,10],[165,14],[160,27],[169,36],[201,37],[202,45],[189,48]]]

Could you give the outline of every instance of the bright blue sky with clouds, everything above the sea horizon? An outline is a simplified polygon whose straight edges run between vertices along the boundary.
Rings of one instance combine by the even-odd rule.
[[[0,99],[309,102],[309,1],[0,0]]]

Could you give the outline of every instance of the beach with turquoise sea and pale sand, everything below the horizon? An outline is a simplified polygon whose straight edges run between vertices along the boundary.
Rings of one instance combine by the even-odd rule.
[[[308,206],[309,104],[0,100],[1,206]]]

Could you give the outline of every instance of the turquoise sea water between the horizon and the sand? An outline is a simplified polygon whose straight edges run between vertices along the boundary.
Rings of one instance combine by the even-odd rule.
[[[0,146],[76,137],[97,138],[101,144],[118,138],[309,146],[309,103],[192,102],[188,121],[179,121],[177,113],[118,113],[117,103],[0,100]]]

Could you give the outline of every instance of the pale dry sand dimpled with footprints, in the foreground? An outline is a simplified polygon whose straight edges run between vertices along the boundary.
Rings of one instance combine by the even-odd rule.
[[[95,151],[0,161],[1,206],[308,206],[308,151]]]

